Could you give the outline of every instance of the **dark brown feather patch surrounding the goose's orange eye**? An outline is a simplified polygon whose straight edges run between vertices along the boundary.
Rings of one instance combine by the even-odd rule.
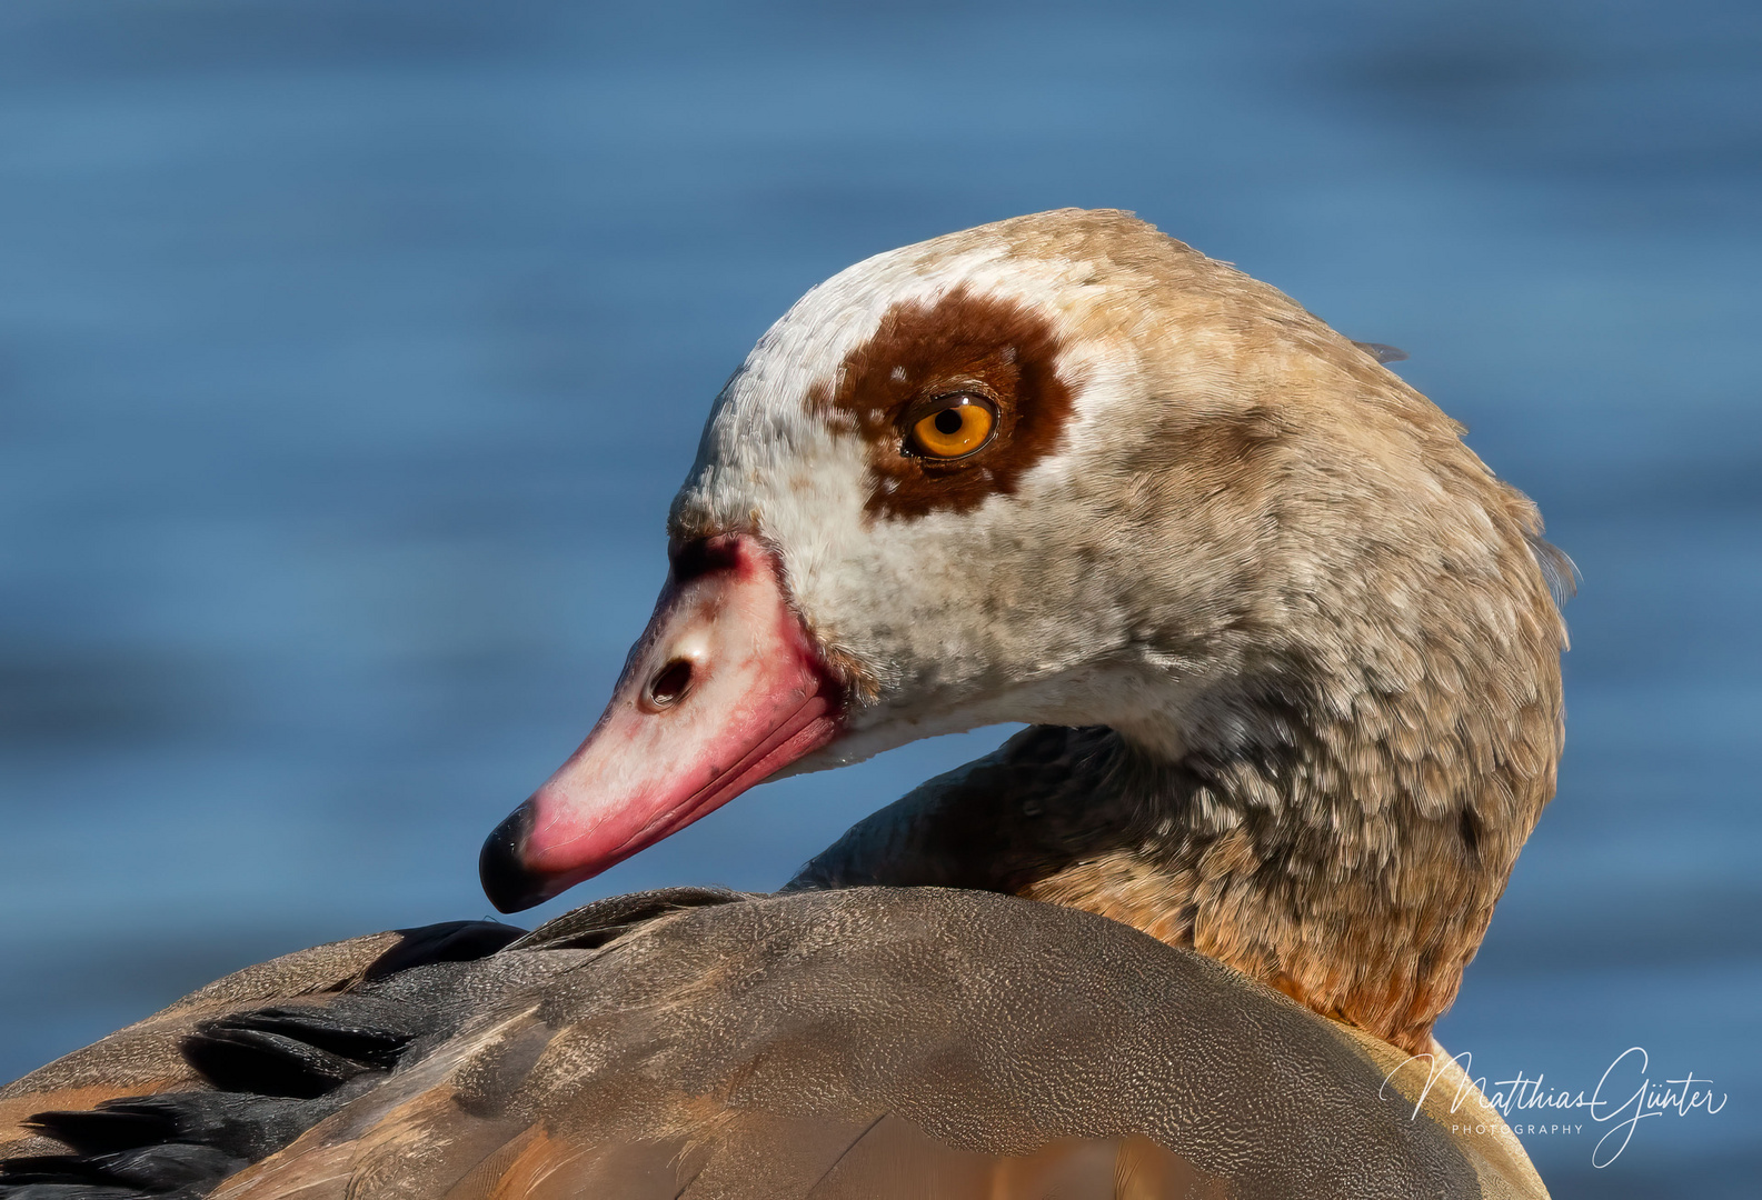
[[[959,287],[934,303],[895,305],[811,402],[867,442],[870,516],[967,513],[992,493],[1011,495],[1057,444],[1071,412],[1057,354],[1047,317]],[[983,418],[943,416],[962,402]]]

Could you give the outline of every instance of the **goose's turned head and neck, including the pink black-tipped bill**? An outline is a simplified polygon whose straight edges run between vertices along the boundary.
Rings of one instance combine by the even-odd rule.
[[[821,881],[1089,907],[1420,1045],[1563,737],[1559,560],[1461,433],[1129,213],[858,263],[717,398],[648,629],[486,890],[525,907],[782,770],[1027,722],[994,767],[1031,768],[929,784]],[[930,865],[1004,844],[1036,848],[1008,878]]]

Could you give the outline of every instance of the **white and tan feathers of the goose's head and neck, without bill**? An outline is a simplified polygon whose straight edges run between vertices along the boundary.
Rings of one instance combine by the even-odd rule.
[[[768,537],[811,627],[879,680],[826,754],[992,719],[1108,726],[1142,759],[1131,795],[1098,774],[1059,793],[1071,812],[1024,814],[1048,807],[1031,781],[996,807],[1020,837],[1096,826],[1011,890],[1424,1047],[1554,791],[1551,578],[1570,567],[1535,507],[1373,354],[1126,213],[951,234],[823,291],[729,382],[673,522]],[[869,511],[885,414],[828,421],[814,381],[881,374],[893,314],[927,296],[944,322],[969,296],[978,328],[1004,301],[1048,326],[1071,411],[983,504]],[[742,474],[754,453],[819,463],[814,486]]]

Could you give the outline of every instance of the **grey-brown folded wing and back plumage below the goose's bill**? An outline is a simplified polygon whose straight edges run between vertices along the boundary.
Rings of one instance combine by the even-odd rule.
[[[1515,1195],[1355,1038],[1075,909],[671,890],[511,936],[294,955],[19,1080],[0,1198]]]

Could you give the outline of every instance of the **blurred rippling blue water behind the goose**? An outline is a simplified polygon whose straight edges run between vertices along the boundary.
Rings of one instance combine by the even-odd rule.
[[[876,250],[1124,206],[1406,347],[1542,504],[1570,751],[1441,1034],[1729,1093],[1600,1172],[1528,1138],[1558,1196],[1751,1195],[1758,51],[1736,2],[11,0],[0,1078],[483,913],[752,338]],[[775,886],[994,740],[763,788],[567,902]]]

